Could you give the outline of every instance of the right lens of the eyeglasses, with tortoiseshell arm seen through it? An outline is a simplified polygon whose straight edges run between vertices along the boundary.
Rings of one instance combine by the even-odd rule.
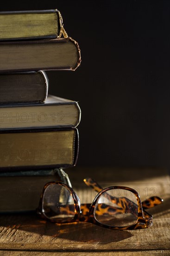
[[[98,198],[94,216],[102,224],[114,227],[133,225],[138,219],[136,196],[126,189],[110,189]]]

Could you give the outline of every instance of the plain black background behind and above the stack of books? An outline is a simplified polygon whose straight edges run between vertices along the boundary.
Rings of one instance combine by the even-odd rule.
[[[81,48],[75,72],[48,71],[49,93],[79,102],[77,166],[170,168],[170,1],[3,1],[57,8]]]

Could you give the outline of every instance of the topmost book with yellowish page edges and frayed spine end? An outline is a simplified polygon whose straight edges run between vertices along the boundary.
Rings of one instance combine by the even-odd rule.
[[[55,39],[63,32],[57,9],[0,12],[0,40]]]

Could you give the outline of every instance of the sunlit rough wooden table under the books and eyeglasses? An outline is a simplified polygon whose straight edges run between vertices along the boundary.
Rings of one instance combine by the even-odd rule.
[[[170,255],[170,177],[163,169],[70,168],[72,186],[82,202],[96,192],[83,178],[91,176],[103,187],[126,185],[138,190],[141,200],[158,195],[164,202],[150,210],[153,226],[139,230],[110,230],[90,223],[54,224],[34,214],[0,216],[1,255]]]

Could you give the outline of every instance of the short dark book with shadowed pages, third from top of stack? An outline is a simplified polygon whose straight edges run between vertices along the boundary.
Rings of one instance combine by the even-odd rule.
[[[0,74],[0,104],[43,103],[48,86],[44,71]]]

